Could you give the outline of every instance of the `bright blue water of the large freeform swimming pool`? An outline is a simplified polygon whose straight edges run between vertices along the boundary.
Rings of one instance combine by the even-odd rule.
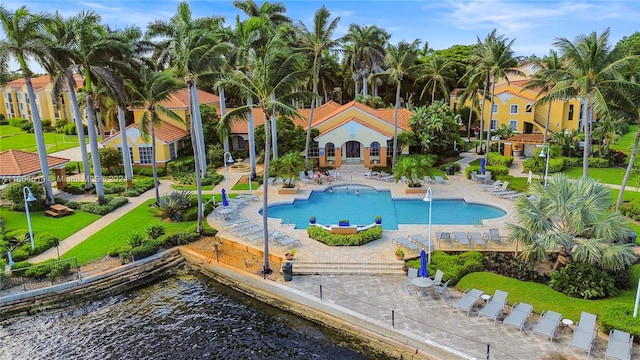
[[[432,210],[431,223],[434,225],[473,225],[505,215],[497,207],[471,204],[461,199],[436,199]],[[429,202],[422,199],[393,200],[389,191],[376,191],[366,186],[342,186],[332,192],[312,191],[308,200],[271,205],[268,215],[280,218],[286,224],[295,224],[297,229],[306,229],[312,215],[324,225],[337,224],[340,219],[349,219],[351,225],[368,225],[376,215],[380,215],[383,228],[397,230],[398,224],[428,224]]]

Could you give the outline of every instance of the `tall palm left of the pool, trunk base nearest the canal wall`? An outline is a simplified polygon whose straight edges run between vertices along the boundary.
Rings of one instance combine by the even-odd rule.
[[[265,159],[264,179],[269,177],[269,163],[271,152],[271,136],[269,116],[275,113],[277,116],[298,117],[302,116],[292,105],[297,100],[307,100],[312,94],[308,92],[292,91],[309,76],[304,68],[303,58],[299,53],[288,52],[288,46],[283,41],[281,33],[276,33],[267,43],[263,57],[250,53],[248,61],[252,72],[249,76],[245,71],[235,70],[227,74],[216,86],[233,87],[249,98],[256,99],[255,104],[245,104],[229,111],[220,121],[220,128],[230,128],[231,123],[245,120],[253,107],[262,109],[264,114],[265,130]],[[268,182],[263,184],[263,213],[262,224],[264,229],[264,273],[270,273],[269,267],[269,240],[268,240]]]

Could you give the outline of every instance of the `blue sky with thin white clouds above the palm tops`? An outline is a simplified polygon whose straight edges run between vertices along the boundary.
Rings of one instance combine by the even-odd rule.
[[[261,4],[261,0],[256,0]],[[275,2],[275,1],[272,1]],[[343,35],[349,24],[377,25],[392,34],[392,42],[427,41],[434,49],[455,44],[473,44],[492,29],[515,39],[516,55],[542,56],[552,48],[556,37],[574,40],[592,31],[611,28],[612,45],[623,36],[640,31],[640,1],[549,1],[549,0],[413,0],[413,1],[281,1],[287,15],[310,26],[313,13],[326,5],[332,15],[340,16],[336,32]],[[99,13],[112,27],[136,25],[142,29],[155,19],[169,19],[178,1],[2,1],[9,9],[25,5],[29,10],[60,11],[65,16],[80,10]],[[189,1],[194,17],[224,16],[228,24],[240,12],[231,1]]]

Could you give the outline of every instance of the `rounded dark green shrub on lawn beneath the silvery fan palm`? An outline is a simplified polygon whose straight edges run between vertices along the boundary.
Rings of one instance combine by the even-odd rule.
[[[571,263],[551,272],[549,285],[567,296],[582,299],[599,299],[616,294],[615,282],[609,274],[582,263]]]

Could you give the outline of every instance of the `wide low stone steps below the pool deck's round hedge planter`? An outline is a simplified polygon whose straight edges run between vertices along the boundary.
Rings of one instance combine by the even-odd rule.
[[[404,262],[293,261],[295,275],[405,275]]]

